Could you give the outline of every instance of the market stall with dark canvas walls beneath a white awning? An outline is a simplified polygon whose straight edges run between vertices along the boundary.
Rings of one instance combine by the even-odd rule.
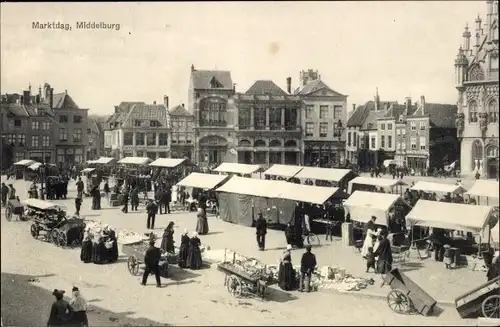
[[[271,208],[279,208],[279,215],[271,214],[268,220],[289,223],[295,212],[295,202],[280,198],[289,183],[233,176],[217,188],[220,218],[244,226],[252,226],[257,213],[267,214]]]

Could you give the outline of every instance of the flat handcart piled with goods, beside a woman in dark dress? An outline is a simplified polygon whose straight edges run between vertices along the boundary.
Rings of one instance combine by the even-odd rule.
[[[273,283],[273,274],[267,270],[267,266],[254,258],[233,253],[232,261],[226,261],[226,250],[224,250],[224,262],[217,265],[217,269],[225,274],[224,286],[234,297],[258,296],[264,299],[267,287]]]

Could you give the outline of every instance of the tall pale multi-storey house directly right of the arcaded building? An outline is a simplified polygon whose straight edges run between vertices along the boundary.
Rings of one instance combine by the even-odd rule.
[[[303,101],[304,164],[334,167],[345,163],[347,96],[328,87],[318,71],[300,73],[294,92]]]

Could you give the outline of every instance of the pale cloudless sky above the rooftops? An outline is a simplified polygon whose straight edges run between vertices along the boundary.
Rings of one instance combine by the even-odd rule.
[[[238,92],[286,90],[317,69],[348,108],[372,100],[456,103],[454,59],[486,1],[2,3],[1,93],[45,82],[91,114],[122,101],[187,104],[191,65],[231,71]],[[71,31],[33,29],[33,22]],[[78,30],[77,22],[120,24]]]

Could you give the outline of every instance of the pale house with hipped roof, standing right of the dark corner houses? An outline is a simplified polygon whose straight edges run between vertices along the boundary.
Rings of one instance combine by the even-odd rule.
[[[108,119],[105,148],[117,159],[170,156],[170,130],[165,105],[122,102]]]

